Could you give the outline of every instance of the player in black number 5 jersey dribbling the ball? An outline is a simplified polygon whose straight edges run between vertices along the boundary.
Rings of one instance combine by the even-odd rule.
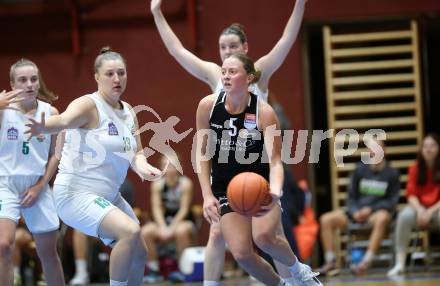
[[[248,85],[258,81],[258,77],[252,60],[243,54],[233,54],[225,59],[222,66],[225,91],[219,95],[209,95],[199,103],[197,129],[212,131],[211,136],[201,136],[203,132],[198,132],[198,147],[203,154],[215,147],[211,160],[196,162],[200,167],[198,176],[204,199],[204,216],[210,223],[220,221],[222,234],[234,258],[265,285],[291,284],[283,281],[257,255],[253,242],[288,266],[294,282],[299,285],[322,285],[316,278],[318,273],[312,272],[310,267],[296,259],[281,228],[281,139],[267,132],[271,128],[275,131],[279,124],[273,109],[248,91]],[[213,133],[217,136],[213,136]],[[196,154],[196,158],[201,157]],[[244,171],[259,173],[270,182],[272,203],[263,207],[256,217],[233,212],[227,202],[226,187],[229,181]]]

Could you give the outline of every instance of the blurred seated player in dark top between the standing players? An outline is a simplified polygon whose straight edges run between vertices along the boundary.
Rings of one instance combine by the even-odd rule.
[[[163,279],[159,275],[158,243],[175,241],[179,258],[194,239],[195,226],[190,220],[192,182],[180,175],[171,163],[166,166],[167,164],[166,157],[162,157],[161,166],[162,169],[166,167],[165,175],[151,184],[153,221],[142,227],[142,235],[148,248],[147,266],[150,270],[144,277],[144,282],[152,283]]]

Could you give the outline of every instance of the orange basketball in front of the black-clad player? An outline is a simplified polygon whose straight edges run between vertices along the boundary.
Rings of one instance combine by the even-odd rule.
[[[227,189],[229,206],[237,213],[253,216],[262,205],[272,201],[269,183],[262,176],[244,172],[236,175],[229,182]]]

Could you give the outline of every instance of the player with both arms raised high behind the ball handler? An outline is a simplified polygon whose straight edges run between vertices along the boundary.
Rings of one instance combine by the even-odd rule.
[[[297,0],[295,2],[295,8],[280,40],[267,55],[264,55],[255,62],[255,68],[261,72],[261,77],[258,82],[251,84],[249,89],[266,102],[269,93],[269,80],[273,73],[281,66],[295,42],[301,26],[306,2],[307,0]],[[152,0],[151,12],[166,48],[186,71],[208,84],[212,92],[219,93],[223,89],[221,66],[214,62],[200,59],[182,45],[163,16],[160,9],[161,4],[162,0]],[[222,31],[219,38],[219,52],[222,61],[233,53],[246,54],[247,51],[248,42],[246,34],[240,24],[232,24]],[[225,242],[220,233],[219,226],[217,223],[213,223],[211,224],[209,240],[206,246],[204,285],[218,285],[223,269],[224,253]],[[275,264],[282,277],[287,278],[290,275],[288,269],[283,265],[277,264],[276,261]]]

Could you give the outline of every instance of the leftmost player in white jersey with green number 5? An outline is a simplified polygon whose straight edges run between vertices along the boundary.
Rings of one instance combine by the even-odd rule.
[[[24,134],[29,118],[58,114],[47,103],[58,97],[46,89],[37,66],[29,60],[11,66],[10,82],[13,90],[22,92],[18,100],[9,94],[6,109],[0,108],[0,285],[12,285],[12,250],[21,215],[34,236],[47,284],[64,285],[56,252],[59,219],[48,184],[59,163],[56,135],[28,140]]]

